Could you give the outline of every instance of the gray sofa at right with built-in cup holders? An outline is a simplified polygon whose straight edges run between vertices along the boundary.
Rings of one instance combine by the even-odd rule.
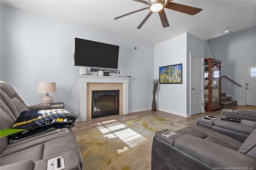
[[[202,119],[204,117],[198,118],[194,125],[177,130],[171,137],[162,135],[168,129],[156,132],[151,169],[255,170],[256,122],[222,120],[225,114],[210,120]]]

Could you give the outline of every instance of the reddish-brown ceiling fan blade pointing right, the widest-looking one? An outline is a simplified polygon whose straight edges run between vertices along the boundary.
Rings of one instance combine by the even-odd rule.
[[[182,5],[182,4],[176,4],[173,2],[170,2],[168,5],[165,6],[165,8],[168,8],[170,10],[175,10],[178,12],[182,12],[189,15],[197,14],[198,12],[202,11],[200,8],[195,8],[192,6]]]

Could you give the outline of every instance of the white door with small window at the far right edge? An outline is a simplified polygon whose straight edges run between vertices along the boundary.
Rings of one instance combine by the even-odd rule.
[[[245,105],[256,106],[256,65],[245,66]]]

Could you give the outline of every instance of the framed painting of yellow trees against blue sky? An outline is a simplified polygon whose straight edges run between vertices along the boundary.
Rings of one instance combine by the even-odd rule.
[[[182,84],[182,63],[159,67],[160,84]]]

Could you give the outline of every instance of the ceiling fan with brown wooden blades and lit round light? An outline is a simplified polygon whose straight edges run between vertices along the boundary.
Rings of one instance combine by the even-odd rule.
[[[186,6],[186,5],[176,4],[176,3],[170,2],[172,0],[148,0],[148,1],[133,0],[133,1],[137,1],[137,2],[147,4],[148,7],[142,8],[140,10],[136,10],[136,11],[133,11],[133,12],[129,12],[128,14],[124,14],[122,16],[118,16],[118,17],[115,18],[115,20],[117,20],[119,18],[122,18],[124,16],[128,16],[130,14],[133,14],[135,12],[139,12],[139,11],[142,11],[142,10],[149,9],[150,12],[144,18],[144,20],[140,23],[140,25],[137,27],[137,29],[140,29],[143,26],[143,24],[148,20],[148,18],[153,14],[153,12],[158,12],[158,14],[160,16],[160,20],[161,20],[162,25],[163,25],[164,28],[170,26],[169,22],[167,20],[166,14],[164,12],[164,8],[168,8],[170,10],[175,10],[175,11],[182,12],[182,13],[189,14],[189,15],[195,15],[198,12],[202,11],[202,9],[200,9],[200,8],[195,8],[195,7],[192,7],[192,6]]]

